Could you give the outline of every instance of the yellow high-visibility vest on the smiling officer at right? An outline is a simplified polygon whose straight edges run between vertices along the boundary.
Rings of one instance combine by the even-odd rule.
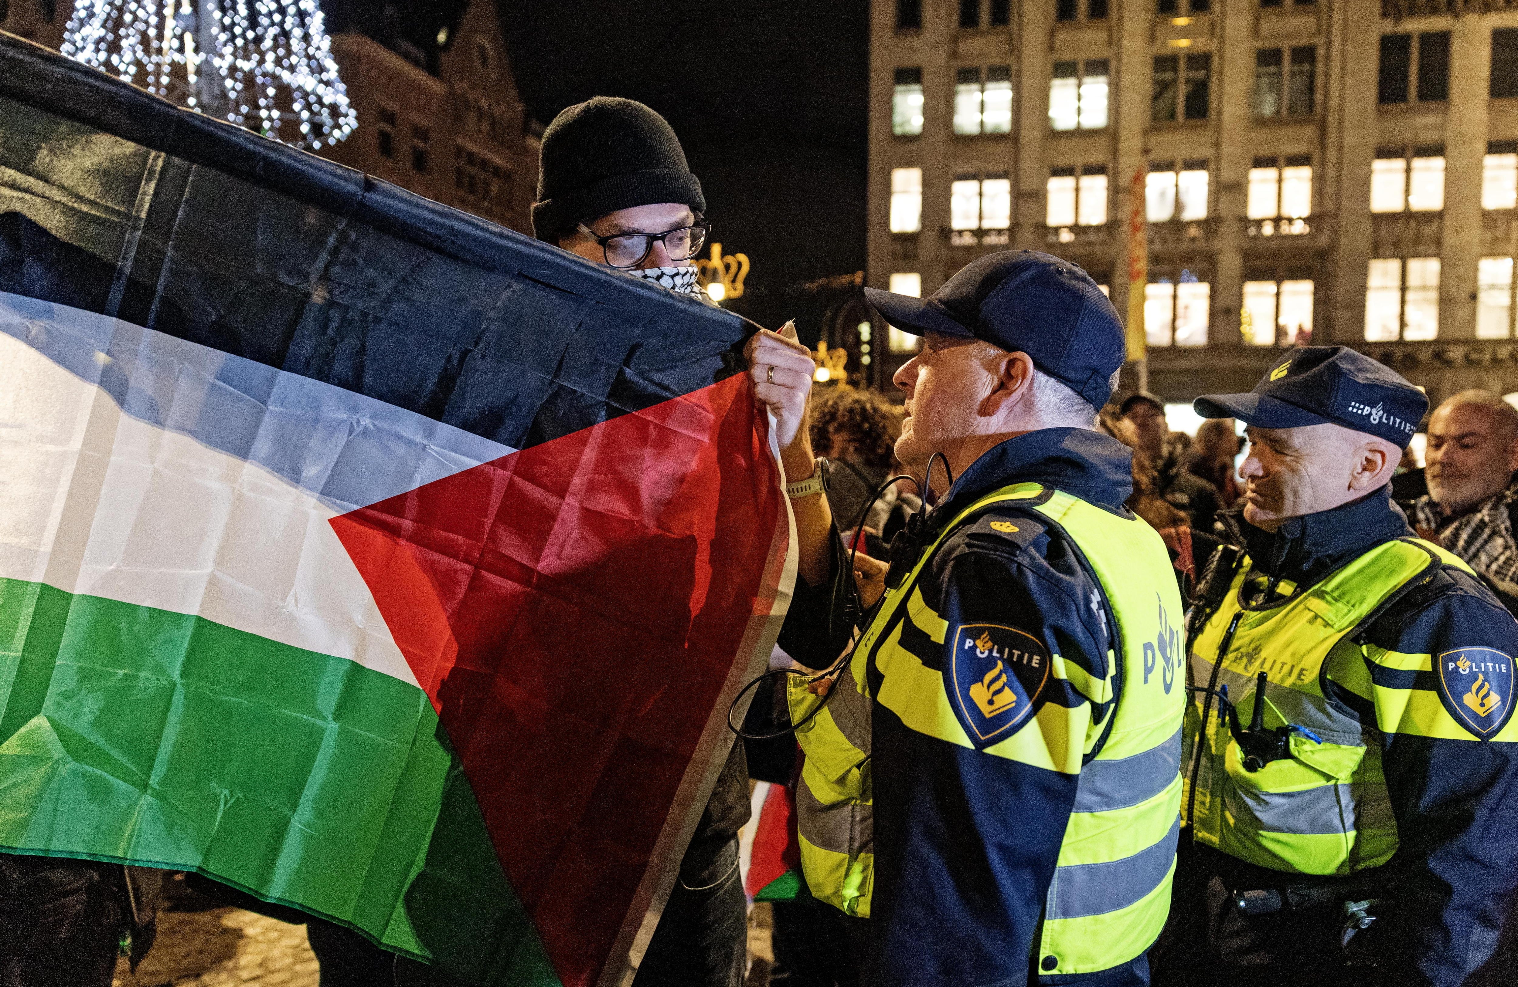
[[[1441,566],[1466,569],[1433,544],[1387,541],[1295,597],[1245,606],[1249,564],[1240,556],[1227,599],[1192,643],[1192,684],[1227,685],[1245,723],[1263,700],[1266,729],[1292,723],[1313,731],[1321,743],[1293,732],[1289,758],[1248,772],[1216,699],[1205,740],[1196,743],[1207,700],[1198,693],[1187,707],[1183,760],[1187,787],[1196,772],[1193,832],[1199,843],[1261,867],[1310,875],[1354,873],[1397,852],[1380,735],[1324,694],[1325,669],[1360,661],[1354,635],[1404,587]],[[1255,694],[1261,670],[1268,676],[1263,697]]]

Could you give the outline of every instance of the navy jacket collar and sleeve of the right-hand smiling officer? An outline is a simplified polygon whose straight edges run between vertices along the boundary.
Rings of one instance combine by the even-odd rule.
[[[1383,487],[1331,511],[1292,519],[1275,534],[1224,512],[1230,534],[1264,576],[1304,590],[1371,547],[1412,535]],[[1518,655],[1518,623],[1482,582],[1444,569],[1416,585],[1359,637],[1412,667],[1462,649]],[[1435,672],[1369,664],[1383,688],[1439,691]],[[1431,667],[1431,666],[1430,666]],[[1512,666],[1509,666],[1510,669]],[[1506,676],[1503,702],[1518,702]],[[1482,738],[1450,723],[1381,723],[1356,690],[1324,676],[1333,699],[1360,716],[1383,746],[1400,849],[1384,864],[1395,905],[1366,932],[1380,966],[1413,984],[1457,987],[1491,963],[1518,882],[1518,725]],[[1495,684],[1495,682],[1494,682]],[[1430,708],[1439,708],[1438,700]],[[1445,697],[1448,708],[1448,697]]]

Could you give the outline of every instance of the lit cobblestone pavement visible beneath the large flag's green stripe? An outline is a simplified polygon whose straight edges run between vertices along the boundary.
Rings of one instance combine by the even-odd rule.
[[[241,908],[158,913],[158,940],[137,967],[115,969],[114,987],[316,987],[316,955],[304,925]]]

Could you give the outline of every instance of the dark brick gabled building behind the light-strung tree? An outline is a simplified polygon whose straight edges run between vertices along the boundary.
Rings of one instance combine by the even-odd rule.
[[[518,96],[495,3],[436,9],[420,41],[398,27],[396,5],[332,26],[358,127],[317,153],[531,235],[540,129]],[[0,30],[56,50],[71,14],[73,0],[0,0]]]

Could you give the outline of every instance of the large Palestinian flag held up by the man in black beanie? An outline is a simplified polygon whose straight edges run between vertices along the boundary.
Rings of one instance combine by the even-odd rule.
[[[789,596],[745,335],[0,35],[0,851],[616,982]]]

